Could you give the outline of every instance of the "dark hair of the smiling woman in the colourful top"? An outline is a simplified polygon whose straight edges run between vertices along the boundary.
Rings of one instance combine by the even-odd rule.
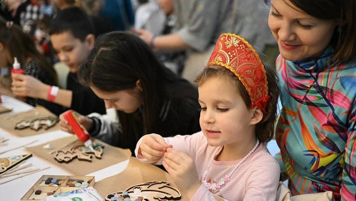
[[[264,0],[269,4],[271,0]],[[286,1],[286,0],[284,0]],[[356,1],[355,0],[288,0],[308,15],[321,20],[340,20],[341,33],[334,30],[330,45],[334,59],[347,63],[356,59]]]

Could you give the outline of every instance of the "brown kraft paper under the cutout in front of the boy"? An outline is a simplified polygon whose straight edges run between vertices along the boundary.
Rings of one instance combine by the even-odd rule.
[[[4,119],[4,118],[12,116],[12,115],[14,115],[13,118],[6,119],[6,120]],[[33,110],[21,112],[21,113],[19,113],[19,115],[17,115],[17,114],[3,114],[3,115],[1,115],[0,116],[0,128],[6,130],[7,132],[9,132],[11,134],[18,135],[21,137],[36,135],[36,134],[40,134],[40,133],[46,133],[46,132],[60,129],[58,123],[56,125],[52,126],[51,128],[48,128],[47,130],[44,128],[41,128],[37,131],[30,129],[30,128],[24,128],[21,130],[15,129],[16,123],[19,123],[22,120],[32,120],[32,119],[41,118],[41,117],[57,118],[56,115],[49,112],[46,108],[44,108],[42,106],[37,106]]]

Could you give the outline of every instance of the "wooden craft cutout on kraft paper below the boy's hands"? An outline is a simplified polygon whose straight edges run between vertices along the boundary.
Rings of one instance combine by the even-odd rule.
[[[25,128],[30,128],[33,130],[40,130],[41,128],[44,128],[45,130],[53,127],[54,125],[57,124],[59,121],[58,118],[54,117],[45,117],[45,118],[36,118],[32,120],[22,120],[21,122],[18,122],[15,124],[15,129],[25,129]]]

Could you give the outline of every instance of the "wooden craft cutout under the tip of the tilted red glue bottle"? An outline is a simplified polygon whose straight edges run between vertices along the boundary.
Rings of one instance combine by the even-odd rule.
[[[96,145],[96,146],[95,146]],[[59,163],[69,163],[75,158],[81,161],[88,161],[91,162],[93,155],[95,158],[101,159],[101,155],[103,155],[103,148],[104,145],[98,143],[94,144],[94,151],[91,151],[89,148],[85,147],[84,145],[77,145],[72,146],[69,150],[58,150],[54,155],[54,159]]]

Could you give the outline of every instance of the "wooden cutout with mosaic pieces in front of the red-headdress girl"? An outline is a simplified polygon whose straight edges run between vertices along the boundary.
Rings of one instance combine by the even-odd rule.
[[[145,198],[145,201],[152,201],[153,199],[159,201],[180,200],[182,194],[180,191],[172,186],[169,186],[168,181],[151,181],[143,184],[131,186],[125,191],[128,192],[130,197],[137,198],[139,196]],[[120,194],[122,192],[115,192],[105,197],[105,200],[110,201],[108,196]],[[151,199],[153,197],[153,199]]]

